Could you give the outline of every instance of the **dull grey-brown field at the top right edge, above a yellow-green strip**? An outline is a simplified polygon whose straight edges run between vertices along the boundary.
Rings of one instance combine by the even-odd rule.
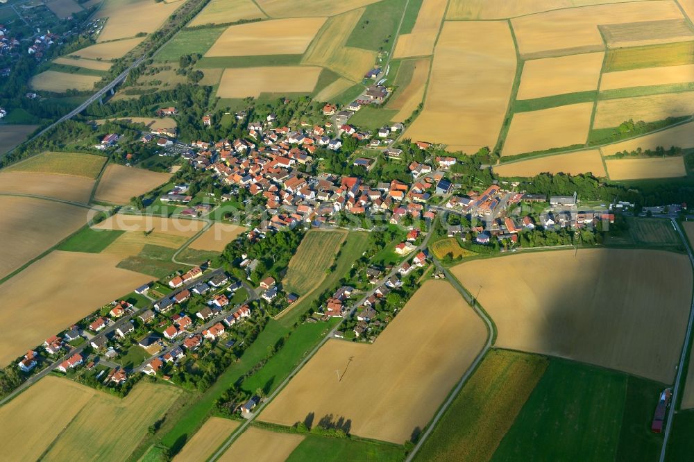
[[[607,24],[600,26],[600,32],[609,49],[686,42],[694,39],[694,32],[689,28],[686,19]]]

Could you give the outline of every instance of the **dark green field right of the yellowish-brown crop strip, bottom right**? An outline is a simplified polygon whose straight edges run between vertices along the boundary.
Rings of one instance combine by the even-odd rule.
[[[551,358],[493,461],[613,461],[627,375]]]

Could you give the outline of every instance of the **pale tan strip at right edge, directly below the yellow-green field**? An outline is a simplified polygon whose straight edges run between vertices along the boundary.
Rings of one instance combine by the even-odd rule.
[[[602,74],[600,89],[694,82],[694,65],[648,67]]]

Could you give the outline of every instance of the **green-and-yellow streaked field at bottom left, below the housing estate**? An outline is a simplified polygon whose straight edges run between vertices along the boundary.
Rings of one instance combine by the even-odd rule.
[[[45,461],[128,459],[147,427],[180,397],[180,388],[142,382],[124,398],[97,393],[51,446]],[[68,398],[69,399],[69,398]]]

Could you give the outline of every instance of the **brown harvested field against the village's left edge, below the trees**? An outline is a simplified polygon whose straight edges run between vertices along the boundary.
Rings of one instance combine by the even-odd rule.
[[[139,196],[163,185],[171,173],[157,173],[135,167],[108,164],[96,188],[95,200],[113,204],[127,204],[133,196]]]

